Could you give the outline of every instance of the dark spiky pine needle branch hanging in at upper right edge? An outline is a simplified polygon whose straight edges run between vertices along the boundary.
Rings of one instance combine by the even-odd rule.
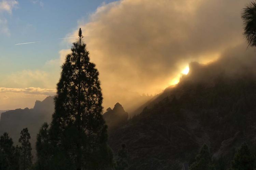
[[[256,46],[256,2],[246,5],[242,12],[244,36],[249,46]]]

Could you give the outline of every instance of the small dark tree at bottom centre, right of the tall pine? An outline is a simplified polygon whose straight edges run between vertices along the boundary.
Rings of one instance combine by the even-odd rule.
[[[126,144],[121,145],[121,149],[118,150],[116,160],[116,170],[125,170],[128,167],[128,153]]]

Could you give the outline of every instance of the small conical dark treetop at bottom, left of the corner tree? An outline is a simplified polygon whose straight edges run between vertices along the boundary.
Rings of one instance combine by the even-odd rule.
[[[196,156],[196,161],[189,167],[190,170],[215,170],[208,145],[204,144]]]

